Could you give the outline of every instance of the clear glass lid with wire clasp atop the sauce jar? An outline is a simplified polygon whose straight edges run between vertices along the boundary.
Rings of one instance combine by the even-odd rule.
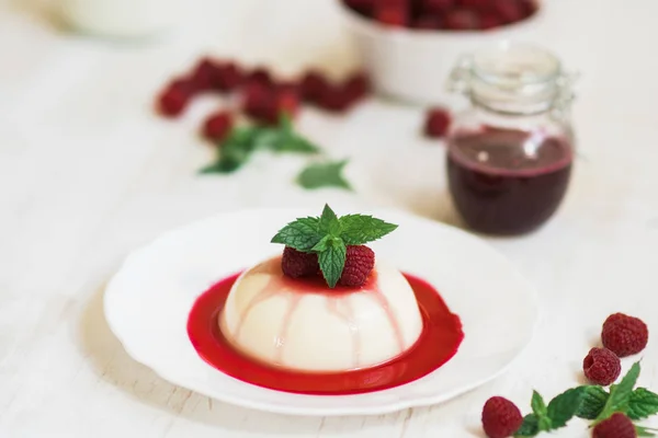
[[[506,42],[463,56],[449,84],[491,110],[535,114],[568,106],[574,79],[548,50]]]

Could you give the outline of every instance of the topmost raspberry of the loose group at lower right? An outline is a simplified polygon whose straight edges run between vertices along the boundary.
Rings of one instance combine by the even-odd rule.
[[[603,346],[619,357],[635,355],[647,346],[649,330],[642,320],[623,313],[614,313],[603,323]]]

